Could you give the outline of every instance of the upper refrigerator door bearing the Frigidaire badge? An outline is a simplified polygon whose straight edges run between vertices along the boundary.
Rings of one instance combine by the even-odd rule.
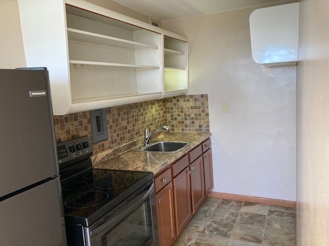
[[[47,70],[0,69],[0,197],[58,174]]]

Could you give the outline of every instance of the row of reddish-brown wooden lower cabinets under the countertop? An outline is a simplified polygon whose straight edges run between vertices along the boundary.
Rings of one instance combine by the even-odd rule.
[[[213,189],[210,139],[155,177],[160,246],[170,246]]]

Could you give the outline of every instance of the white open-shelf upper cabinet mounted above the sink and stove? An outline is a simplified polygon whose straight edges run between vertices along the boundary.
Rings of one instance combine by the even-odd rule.
[[[187,93],[186,37],[82,0],[19,7],[26,63],[49,70],[54,115]]]

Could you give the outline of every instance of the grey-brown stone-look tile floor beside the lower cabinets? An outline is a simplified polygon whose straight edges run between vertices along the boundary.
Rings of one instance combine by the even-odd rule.
[[[173,246],[296,246],[295,209],[208,197]]]

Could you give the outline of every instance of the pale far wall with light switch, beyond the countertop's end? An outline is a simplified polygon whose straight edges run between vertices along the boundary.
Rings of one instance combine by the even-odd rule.
[[[209,94],[213,191],[296,200],[296,66],[254,63],[253,10],[161,25],[189,38],[188,94]],[[229,113],[222,113],[223,101]]]

